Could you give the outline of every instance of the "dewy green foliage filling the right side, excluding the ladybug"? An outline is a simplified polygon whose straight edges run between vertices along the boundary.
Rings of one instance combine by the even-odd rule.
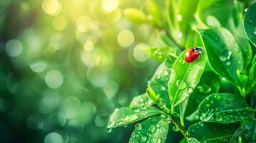
[[[169,124],[184,136],[180,142],[255,142],[256,56],[252,59],[255,47],[249,40],[255,44],[256,5],[247,8],[244,17],[246,1],[166,0],[165,4],[165,9],[156,1],[146,4],[145,14],[154,21],[144,23],[163,27],[161,44],[143,50],[160,65],[148,82],[147,94],[132,102],[135,109],[146,105],[158,112],[146,109],[143,114],[149,118],[136,124],[130,142],[165,142]],[[161,17],[166,25],[161,25],[165,24]],[[186,52],[195,46],[203,52],[196,61],[186,62]],[[141,116],[125,111],[111,115],[110,123],[127,113]]]

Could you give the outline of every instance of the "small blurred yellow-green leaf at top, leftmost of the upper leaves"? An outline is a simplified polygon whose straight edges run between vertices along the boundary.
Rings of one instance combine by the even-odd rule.
[[[139,9],[128,8],[123,11],[123,14],[134,23],[142,24],[147,21],[147,16]]]

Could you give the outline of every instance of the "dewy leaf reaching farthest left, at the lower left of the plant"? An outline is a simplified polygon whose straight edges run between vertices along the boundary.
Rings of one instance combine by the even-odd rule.
[[[162,114],[162,112],[155,107],[121,107],[120,109],[115,109],[115,112],[110,115],[108,128],[131,124],[156,114]]]

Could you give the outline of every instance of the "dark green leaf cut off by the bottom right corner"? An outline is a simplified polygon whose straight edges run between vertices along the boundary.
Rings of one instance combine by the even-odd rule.
[[[237,143],[239,140],[241,140],[241,142],[256,142],[256,120],[237,129],[230,143]]]

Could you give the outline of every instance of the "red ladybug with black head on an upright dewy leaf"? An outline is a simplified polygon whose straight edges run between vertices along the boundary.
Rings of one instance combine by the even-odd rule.
[[[186,51],[185,54],[186,62],[190,63],[195,61],[202,54],[202,51],[202,48],[199,48],[197,46],[189,48],[189,50]]]

